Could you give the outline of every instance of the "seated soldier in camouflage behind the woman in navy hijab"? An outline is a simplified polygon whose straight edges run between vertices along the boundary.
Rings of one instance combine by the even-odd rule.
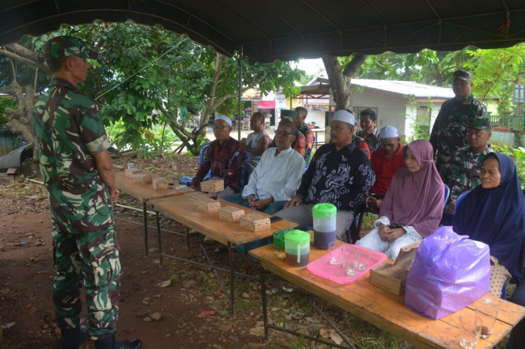
[[[492,136],[490,119],[485,117],[472,119],[467,134],[469,146],[456,150],[451,160],[439,172],[443,182],[450,188],[449,202],[445,206],[442,223],[451,225],[459,195],[476,188],[481,183],[479,179],[481,163],[487,154],[494,151],[488,143],[490,136]]]

